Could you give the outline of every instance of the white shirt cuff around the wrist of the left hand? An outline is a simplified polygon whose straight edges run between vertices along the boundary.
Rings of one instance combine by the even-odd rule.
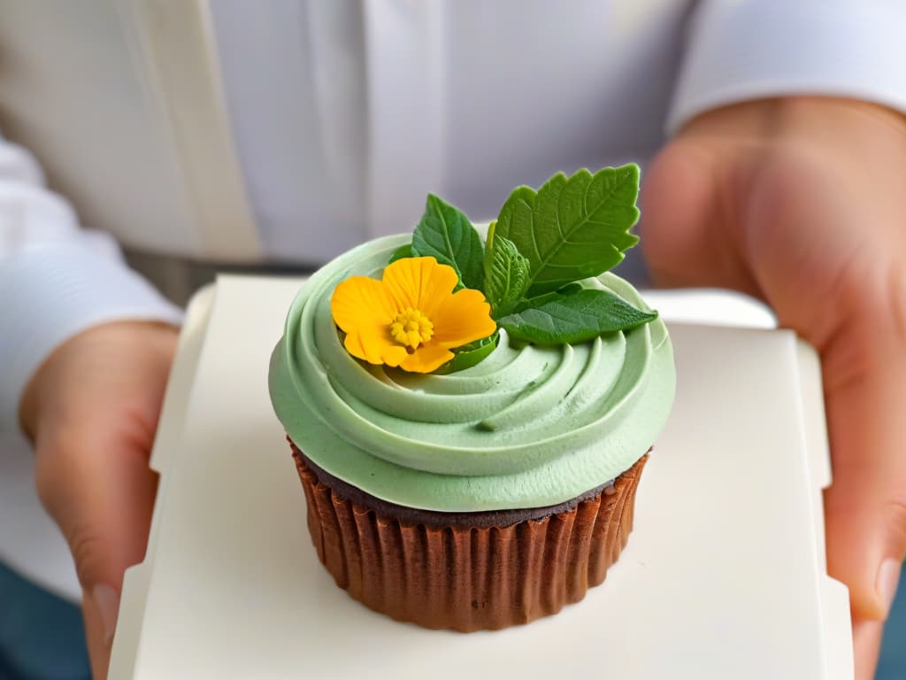
[[[182,312],[119,257],[79,244],[22,248],[0,261],[0,431],[19,427],[19,399],[44,358],[92,325],[178,324]]]

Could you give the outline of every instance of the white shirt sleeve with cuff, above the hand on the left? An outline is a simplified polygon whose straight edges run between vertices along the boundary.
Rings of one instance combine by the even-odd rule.
[[[126,266],[108,235],[79,228],[34,158],[0,137],[0,432],[55,347],[108,321],[179,323],[182,313]]]

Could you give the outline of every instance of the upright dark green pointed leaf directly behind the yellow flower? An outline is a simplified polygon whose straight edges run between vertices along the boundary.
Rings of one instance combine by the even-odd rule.
[[[456,269],[463,286],[483,290],[481,237],[464,212],[434,194],[428,195],[425,214],[412,235],[412,255],[435,257]]]

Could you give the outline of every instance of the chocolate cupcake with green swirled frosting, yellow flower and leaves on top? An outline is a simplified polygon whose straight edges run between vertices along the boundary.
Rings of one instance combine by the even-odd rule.
[[[634,165],[558,174],[484,235],[429,196],[414,234],[305,283],[269,387],[352,597],[468,632],[603,581],[675,385],[666,327],[608,271],[638,240],[638,186]]]

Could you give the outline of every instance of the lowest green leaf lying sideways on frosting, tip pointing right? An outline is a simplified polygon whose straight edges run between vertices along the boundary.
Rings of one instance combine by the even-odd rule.
[[[541,306],[504,316],[498,324],[516,340],[563,345],[636,328],[657,317],[657,312],[636,309],[605,290],[583,288],[571,295],[557,294]]]

